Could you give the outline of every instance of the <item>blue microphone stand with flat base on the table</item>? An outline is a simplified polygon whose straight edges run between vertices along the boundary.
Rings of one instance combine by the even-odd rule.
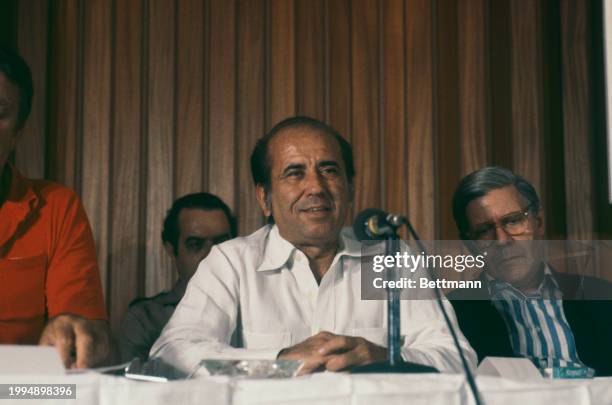
[[[395,256],[399,247],[397,227],[393,227],[385,239],[385,255]],[[397,279],[397,267],[387,269],[386,273],[388,280]],[[387,361],[357,366],[351,373],[438,373],[434,367],[402,359],[400,294],[400,289],[387,287]]]

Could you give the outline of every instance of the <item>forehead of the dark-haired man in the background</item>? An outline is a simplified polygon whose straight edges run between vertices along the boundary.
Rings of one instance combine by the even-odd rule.
[[[183,238],[215,236],[230,231],[227,216],[220,209],[183,208],[178,222],[180,236]]]

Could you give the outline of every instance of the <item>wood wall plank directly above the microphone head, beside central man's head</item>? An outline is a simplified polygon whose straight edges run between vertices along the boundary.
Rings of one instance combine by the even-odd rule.
[[[380,207],[383,190],[380,168],[378,2],[352,3],[352,144],[358,160],[355,210]]]

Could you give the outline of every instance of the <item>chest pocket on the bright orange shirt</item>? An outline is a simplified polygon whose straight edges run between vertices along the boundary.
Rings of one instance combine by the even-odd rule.
[[[47,256],[0,259],[0,320],[45,316]]]

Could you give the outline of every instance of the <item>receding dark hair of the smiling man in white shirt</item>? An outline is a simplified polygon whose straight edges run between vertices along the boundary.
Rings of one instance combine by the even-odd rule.
[[[323,121],[319,121],[311,117],[296,116],[286,118],[274,125],[274,127],[255,144],[255,148],[251,154],[251,174],[253,175],[255,185],[262,185],[266,192],[270,190],[271,166],[270,156],[268,156],[268,144],[274,135],[283,129],[298,127],[317,129],[327,135],[332,136],[334,139],[336,139],[336,141],[338,141],[338,144],[340,144],[342,160],[344,161],[344,167],[346,169],[346,178],[349,184],[352,184],[353,177],[355,177],[355,165],[353,163],[353,149],[351,148],[351,144],[349,144],[346,139],[344,139],[342,135],[338,133],[338,131]]]

